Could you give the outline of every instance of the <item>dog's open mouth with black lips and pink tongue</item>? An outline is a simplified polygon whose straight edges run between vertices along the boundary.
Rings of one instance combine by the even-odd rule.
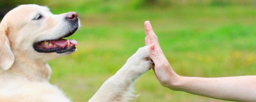
[[[76,30],[75,30],[76,31]],[[72,35],[75,31],[72,31],[71,33],[68,33],[64,37],[68,37]],[[39,41],[37,43],[34,43],[33,47],[34,49],[39,53],[66,53],[66,52],[74,52],[76,51],[76,45],[78,45],[77,41],[75,39],[52,39],[52,40],[45,40],[45,41]]]

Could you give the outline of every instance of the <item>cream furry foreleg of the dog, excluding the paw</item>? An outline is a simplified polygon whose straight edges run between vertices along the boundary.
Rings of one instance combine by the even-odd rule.
[[[126,98],[134,97],[132,83],[137,77],[130,77],[128,74],[125,73],[125,68],[120,69],[102,84],[89,102],[125,102],[128,100]]]

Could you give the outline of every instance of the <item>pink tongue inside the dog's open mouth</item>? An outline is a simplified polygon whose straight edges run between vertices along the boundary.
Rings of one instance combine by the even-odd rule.
[[[66,40],[66,39],[58,39],[58,40],[52,40],[50,43],[55,44],[59,47],[66,47],[67,45],[78,45],[77,41],[75,39]]]

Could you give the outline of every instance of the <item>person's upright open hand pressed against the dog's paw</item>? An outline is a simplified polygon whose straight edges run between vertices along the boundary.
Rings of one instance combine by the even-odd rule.
[[[145,33],[145,44],[150,45],[149,55],[155,64],[152,69],[156,75],[156,78],[160,84],[162,84],[162,86],[173,89],[176,82],[178,82],[179,76],[172,70],[172,67],[164,56],[158,42],[158,38],[154,33],[149,21],[145,22]]]

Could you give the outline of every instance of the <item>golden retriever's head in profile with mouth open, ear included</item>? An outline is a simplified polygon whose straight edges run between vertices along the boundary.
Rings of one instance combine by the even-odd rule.
[[[0,23],[0,68],[9,69],[16,57],[47,62],[76,50],[78,43],[62,39],[79,27],[76,12],[54,15],[47,7],[21,5]]]

